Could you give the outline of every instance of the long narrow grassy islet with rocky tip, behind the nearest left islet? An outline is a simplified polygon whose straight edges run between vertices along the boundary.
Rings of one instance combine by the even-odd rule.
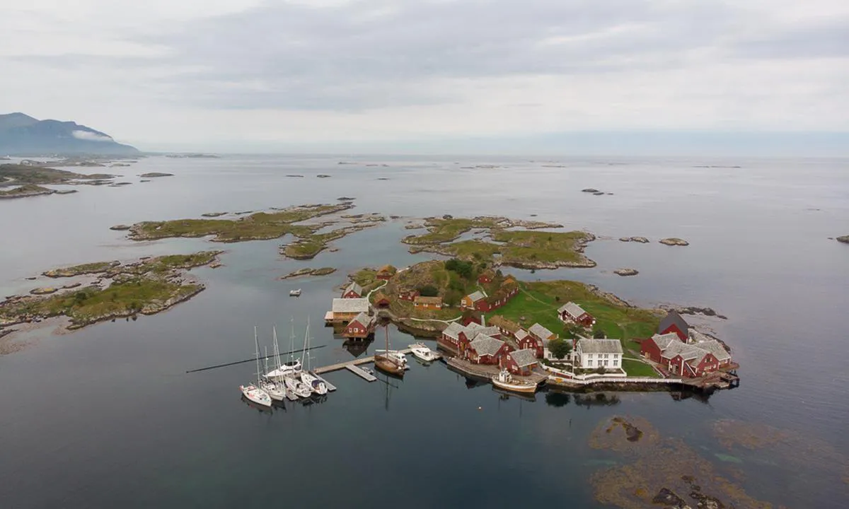
[[[351,208],[348,204],[305,205],[274,212],[256,212],[236,220],[177,219],[173,221],[144,221],[132,226],[133,240],[153,240],[176,237],[206,237],[214,235],[217,242],[243,242],[280,238],[291,233],[306,238],[325,225],[294,225],[320,215],[334,214]]]

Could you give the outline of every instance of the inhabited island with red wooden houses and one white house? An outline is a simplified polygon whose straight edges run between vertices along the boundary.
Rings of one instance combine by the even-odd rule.
[[[506,369],[531,387],[570,392],[710,394],[739,383],[728,346],[677,311],[639,308],[582,282],[521,281],[459,258],[363,268],[349,280],[325,316],[335,332],[368,340],[381,320],[393,322],[436,338],[467,378],[489,381]]]

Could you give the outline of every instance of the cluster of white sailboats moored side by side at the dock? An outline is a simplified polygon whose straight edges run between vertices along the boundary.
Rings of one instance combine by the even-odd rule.
[[[310,327],[306,325],[306,336],[304,338],[303,358],[306,359],[306,369],[303,368],[300,359],[295,359],[295,331],[294,327],[291,335],[292,348],[290,349],[290,360],[282,361],[280,356],[280,346],[277,341],[277,329],[272,329],[273,333],[273,352],[270,356],[273,361],[272,369],[268,369],[269,355],[265,355],[265,369],[261,369],[260,365],[260,345],[259,339],[256,337],[256,327],[254,327],[254,344],[256,345],[256,383],[240,385],[239,389],[245,395],[247,400],[253,401],[257,405],[272,406],[273,401],[290,400],[295,401],[301,398],[309,398],[313,394],[327,394],[327,384],[323,379],[318,377],[314,372],[310,371],[310,357],[308,347],[310,341]]]

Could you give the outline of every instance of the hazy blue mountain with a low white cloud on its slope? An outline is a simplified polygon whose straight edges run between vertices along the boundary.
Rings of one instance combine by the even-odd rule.
[[[138,154],[108,134],[76,122],[38,120],[23,113],[0,115],[0,155]]]

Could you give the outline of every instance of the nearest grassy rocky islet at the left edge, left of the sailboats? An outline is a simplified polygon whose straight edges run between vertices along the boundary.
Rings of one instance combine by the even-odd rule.
[[[118,317],[153,315],[191,299],[205,287],[188,279],[185,271],[215,262],[222,251],[165,255],[122,264],[103,261],[45,271],[48,277],[97,275],[83,286],[36,288],[34,295],[15,295],[0,302],[0,335],[9,327],[42,322],[55,316],[70,319],[69,330]],[[73,288],[73,289],[71,289]]]

